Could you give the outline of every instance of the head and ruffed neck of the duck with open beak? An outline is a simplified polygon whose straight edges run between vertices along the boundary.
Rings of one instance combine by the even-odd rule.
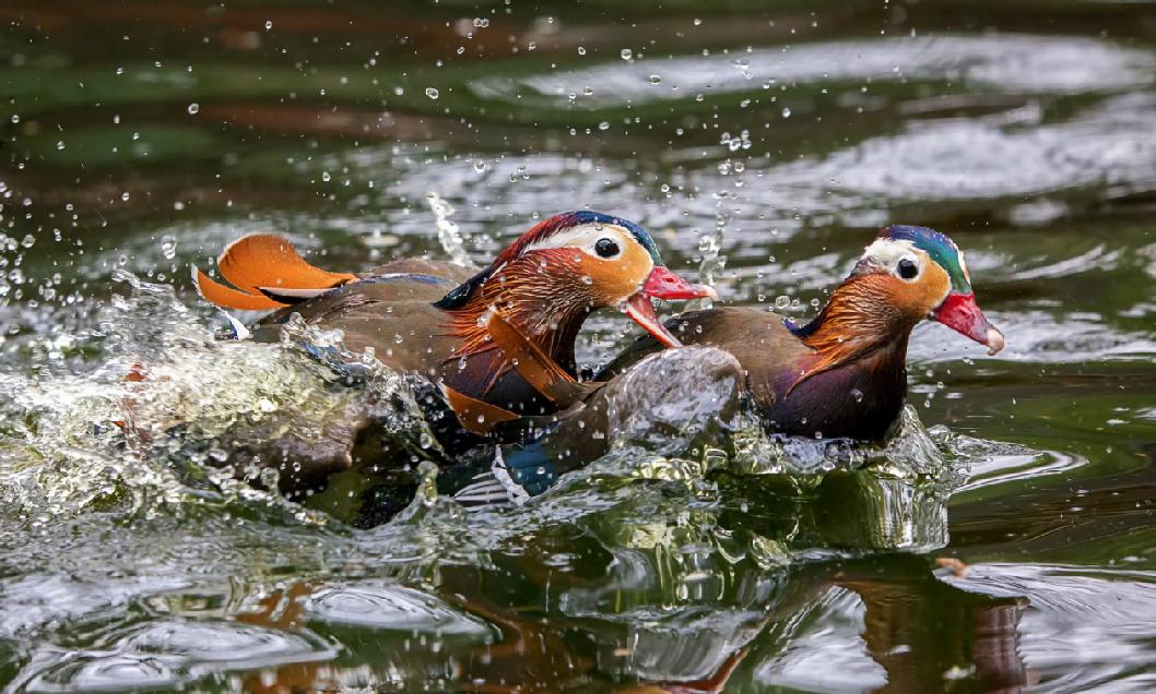
[[[620,307],[662,344],[680,346],[654,313],[652,299],[702,297],[717,294],[667,269],[640,226],[581,210],[539,223],[435,306],[458,316],[455,331],[465,338],[459,356],[492,346],[483,316],[498,311],[566,365],[578,328],[591,312]]]

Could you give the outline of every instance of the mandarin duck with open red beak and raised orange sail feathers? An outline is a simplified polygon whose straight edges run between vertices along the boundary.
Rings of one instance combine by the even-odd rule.
[[[275,309],[253,328],[255,339],[279,339],[294,314],[321,329],[340,329],[351,352],[371,348],[386,366],[439,387],[461,427],[474,434],[523,415],[549,415],[587,393],[577,381],[575,339],[592,312],[620,307],[655,344],[679,346],[651,300],[714,296],[668,270],[640,226],[588,210],[536,224],[477,273],[418,259],[363,275],[331,273],[273,234],[235,241],[217,267],[232,288],[193,269],[206,300],[223,308]],[[504,333],[491,330],[496,326]],[[518,339],[510,345],[495,333]],[[519,367],[518,355],[504,346],[531,350],[538,360]],[[570,386],[568,402],[535,388],[546,382],[527,371],[536,364]]]

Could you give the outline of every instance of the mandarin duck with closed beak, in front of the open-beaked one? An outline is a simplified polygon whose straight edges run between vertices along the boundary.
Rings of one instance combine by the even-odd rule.
[[[1003,335],[976,304],[963,253],[951,239],[931,229],[889,226],[810,322],[796,324],[761,307],[668,319],[666,328],[687,348],[659,352],[658,341],[640,337],[583,383],[599,388],[593,395],[551,417],[526,418],[535,426],[499,448],[489,473],[455,498],[520,503],[622,441],[638,442],[651,428],[694,434],[659,442],[660,453],[680,455],[666,450],[680,441],[686,443],[681,453],[702,450],[738,424],[732,416],[741,396],[771,434],[881,442],[898,425],[907,341],[924,319],[966,335],[992,355],[1003,348]],[[517,335],[503,337],[517,342]],[[521,350],[533,357],[528,352]],[[564,374],[556,379],[566,380]],[[680,379],[691,383],[680,388]],[[544,382],[539,388],[558,387]],[[666,402],[673,394],[681,403]],[[712,440],[703,440],[701,434],[711,431]]]

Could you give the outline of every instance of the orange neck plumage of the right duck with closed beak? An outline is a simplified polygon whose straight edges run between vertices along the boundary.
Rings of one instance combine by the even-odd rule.
[[[815,351],[799,380],[851,364],[905,375],[907,342],[920,318],[889,300],[879,276],[849,277],[818,315],[795,330]]]

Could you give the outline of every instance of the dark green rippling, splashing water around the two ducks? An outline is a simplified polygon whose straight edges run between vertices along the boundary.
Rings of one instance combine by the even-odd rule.
[[[1151,687],[1156,13],[755,5],[8,2],[0,680]],[[883,452],[675,438],[521,508],[425,493],[372,529],[234,479],[276,483],[254,442],[339,458],[329,412],[423,424],[305,336],[214,342],[190,263],[271,229],[335,270],[443,238],[479,262],[579,207],[795,316],[879,225],[934,226],[1008,348],[919,328]],[[596,316],[580,359],[623,331]]]

